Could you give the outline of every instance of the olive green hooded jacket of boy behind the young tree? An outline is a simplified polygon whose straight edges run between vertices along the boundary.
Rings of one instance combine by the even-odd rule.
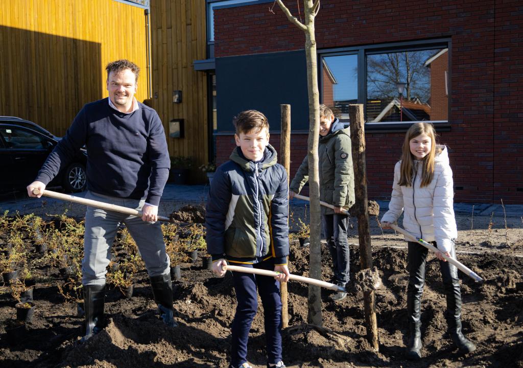
[[[349,128],[344,128],[336,119],[328,135],[320,137],[319,141],[320,200],[345,209],[349,209],[355,202],[353,159],[350,152]],[[305,156],[289,188],[300,193],[308,180],[309,160]],[[334,214],[334,210],[322,206],[322,214]]]

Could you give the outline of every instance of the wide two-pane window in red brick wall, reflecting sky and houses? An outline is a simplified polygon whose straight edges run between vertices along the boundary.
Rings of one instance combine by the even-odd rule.
[[[448,42],[435,41],[324,53],[322,102],[342,121],[348,121],[348,105],[360,103],[370,125],[447,122],[448,51]]]

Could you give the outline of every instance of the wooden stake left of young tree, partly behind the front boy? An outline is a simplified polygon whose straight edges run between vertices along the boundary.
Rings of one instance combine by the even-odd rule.
[[[287,188],[289,188],[289,172],[291,167],[291,105],[280,105],[281,136],[280,163],[287,171]],[[289,308],[287,298],[287,283],[280,283],[281,295],[281,327],[289,327]]]

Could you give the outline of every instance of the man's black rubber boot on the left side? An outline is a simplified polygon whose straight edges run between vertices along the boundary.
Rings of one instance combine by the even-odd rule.
[[[105,285],[84,285],[83,289],[85,310],[85,336],[82,338],[82,342],[87,341],[95,333],[100,332],[105,327]]]

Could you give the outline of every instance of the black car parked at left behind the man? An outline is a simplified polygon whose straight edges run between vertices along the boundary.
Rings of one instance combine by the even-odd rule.
[[[0,119],[0,193],[23,190],[35,180],[42,164],[58,143],[47,130],[30,129],[20,120]],[[27,121],[27,120],[24,120]],[[34,124],[34,123],[31,123]],[[48,184],[60,185],[67,192],[81,192],[87,186],[87,154],[81,149],[65,170]]]

